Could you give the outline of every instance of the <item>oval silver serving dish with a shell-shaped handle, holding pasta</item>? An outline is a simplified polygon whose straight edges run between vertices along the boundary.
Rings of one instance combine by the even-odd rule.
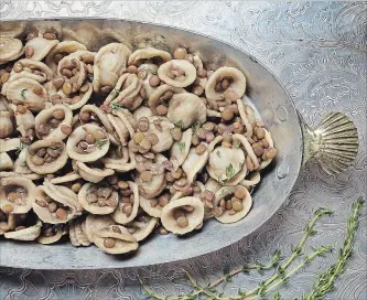
[[[45,20],[23,22],[30,26],[40,21]],[[180,45],[190,49],[190,52],[198,52],[208,69],[223,65],[238,67],[247,77],[246,96],[251,99],[271,131],[278,156],[262,172],[261,183],[252,194],[253,206],[250,213],[238,223],[224,225],[211,219],[205,222],[203,229],[185,237],[172,234],[153,235],[141,243],[136,253],[121,256],[104,254],[94,246],[76,248],[69,243],[45,246],[0,239],[1,266],[30,269],[127,268],[176,261],[212,253],[248,236],[267,222],[287,200],[302,162],[309,158],[315,157],[331,173],[341,172],[355,158],[358,148],[355,139],[349,143],[352,154],[346,154],[348,159],[342,160],[343,163],[337,167],[323,151],[323,137],[327,136],[324,133],[330,132],[330,128],[334,128],[336,124],[339,126],[338,118],[343,120],[339,132],[348,131],[348,136],[357,136],[354,125],[344,115],[336,113],[330,116],[330,126],[323,125],[312,131],[300,120],[294,104],[277,77],[255,57],[239,49],[194,32],[136,21],[62,19],[53,22],[58,22],[65,32],[75,32],[76,39],[89,50],[96,51],[114,41],[121,41],[133,50],[154,46],[171,53]],[[342,151],[331,152],[337,158],[337,153]]]

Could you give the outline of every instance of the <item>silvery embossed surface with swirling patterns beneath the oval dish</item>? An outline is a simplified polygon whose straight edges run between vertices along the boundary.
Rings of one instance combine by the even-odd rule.
[[[289,201],[261,228],[241,242],[198,258],[123,270],[32,271],[0,268],[0,299],[145,299],[137,275],[150,279],[161,294],[188,290],[183,269],[204,282],[244,261],[267,260],[277,249],[287,255],[300,239],[305,222],[320,207],[336,214],[324,218],[309,246],[336,249],[346,235],[346,218],[357,196],[366,199],[366,44],[367,2],[230,2],[230,1],[0,1],[1,19],[109,17],[150,21],[203,32],[249,52],[265,63],[289,90],[310,125],[331,110],[357,125],[360,150],[356,163],[339,176],[307,164]],[[367,299],[366,205],[346,272],[327,299]],[[1,254],[0,254],[1,255]],[[24,254],[26,256],[26,254]],[[313,261],[280,289],[282,299],[310,291],[317,274],[337,253]],[[256,271],[228,282],[226,293],[261,281]]]

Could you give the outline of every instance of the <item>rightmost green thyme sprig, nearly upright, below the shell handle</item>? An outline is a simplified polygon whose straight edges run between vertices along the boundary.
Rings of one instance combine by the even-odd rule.
[[[355,233],[358,228],[358,217],[364,201],[359,197],[353,203],[353,214],[347,223],[347,237],[343,248],[339,249],[336,264],[332,265],[325,272],[319,275],[317,280],[313,285],[312,291],[304,297],[306,300],[321,300],[326,297],[326,293],[334,289],[335,279],[345,270],[345,265],[352,256],[352,245],[355,238]]]

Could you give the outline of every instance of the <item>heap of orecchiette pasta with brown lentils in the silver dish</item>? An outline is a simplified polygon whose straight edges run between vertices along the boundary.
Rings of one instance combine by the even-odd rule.
[[[0,40],[0,235],[108,254],[251,208],[277,154],[236,67],[179,46],[89,51],[54,25]]]

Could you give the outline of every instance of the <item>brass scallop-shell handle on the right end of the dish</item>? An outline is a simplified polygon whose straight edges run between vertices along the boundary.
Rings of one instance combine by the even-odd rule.
[[[328,174],[339,174],[356,159],[358,131],[342,113],[330,113],[315,128],[310,128],[299,114],[303,132],[303,161],[316,159]]]

